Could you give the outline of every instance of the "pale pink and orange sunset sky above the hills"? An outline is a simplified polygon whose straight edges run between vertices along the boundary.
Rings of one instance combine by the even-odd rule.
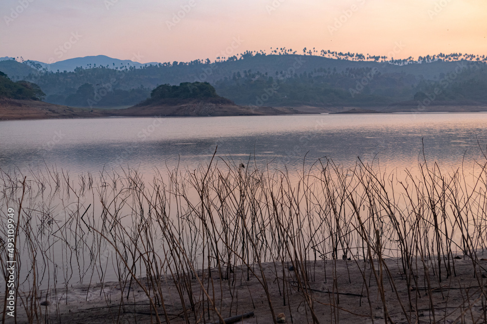
[[[487,49],[486,0],[1,0],[0,9],[0,57],[42,62],[213,61],[271,47],[395,59]]]

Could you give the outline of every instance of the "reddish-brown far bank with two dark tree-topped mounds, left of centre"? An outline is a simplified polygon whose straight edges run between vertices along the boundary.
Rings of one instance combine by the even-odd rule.
[[[152,90],[149,99],[125,109],[74,108],[42,102],[45,94],[38,85],[13,82],[5,73],[0,73],[0,120],[306,114],[286,107],[240,106],[220,97],[207,82],[159,85]]]

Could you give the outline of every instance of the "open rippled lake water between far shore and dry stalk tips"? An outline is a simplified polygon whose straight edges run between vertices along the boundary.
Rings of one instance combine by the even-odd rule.
[[[387,168],[412,168],[422,154],[456,168],[482,158],[487,114],[312,115],[213,118],[117,118],[0,122],[0,167],[55,165],[72,173],[120,167],[150,175],[189,169],[217,156],[290,170],[321,157],[352,166],[357,156]],[[309,153],[308,153],[309,152]],[[218,159],[217,159],[218,160]],[[221,162],[219,162],[221,163]]]

